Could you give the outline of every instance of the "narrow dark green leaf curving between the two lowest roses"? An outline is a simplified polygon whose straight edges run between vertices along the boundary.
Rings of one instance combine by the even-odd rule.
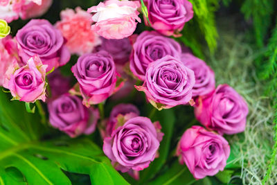
[[[174,111],[172,109],[164,109],[162,111],[156,112],[152,121],[160,122],[161,132],[164,134],[163,140],[161,141],[159,148],[159,158],[154,159],[150,166],[141,172],[139,184],[145,182],[146,179],[154,177],[154,175],[156,175],[156,173],[161,170],[164,164],[166,164],[175,123]]]

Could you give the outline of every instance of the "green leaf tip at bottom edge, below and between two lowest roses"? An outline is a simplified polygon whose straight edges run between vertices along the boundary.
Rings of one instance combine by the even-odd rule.
[[[193,175],[191,175],[190,171],[185,165],[179,164],[179,161],[176,160],[172,166],[168,170],[166,170],[166,173],[163,173],[157,177],[157,179],[154,179],[152,182],[150,182],[151,185],[168,185],[168,184],[174,184],[174,185],[190,185],[195,182],[195,178]]]

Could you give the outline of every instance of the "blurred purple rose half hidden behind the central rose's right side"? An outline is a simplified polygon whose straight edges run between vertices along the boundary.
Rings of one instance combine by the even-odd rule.
[[[203,60],[190,53],[182,53],[181,62],[195,72],[193,97],[210,94],[215,89],[215,73]]]

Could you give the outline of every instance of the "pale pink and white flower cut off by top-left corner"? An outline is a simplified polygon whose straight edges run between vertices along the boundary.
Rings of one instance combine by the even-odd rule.
[[[43,15],[53,0],[0,0],[0,19],[8,22]]]

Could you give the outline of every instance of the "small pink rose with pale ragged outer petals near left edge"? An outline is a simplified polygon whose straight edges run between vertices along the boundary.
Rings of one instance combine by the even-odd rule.
[[[37,55],[30,58],[24,67],[14,62],[6,71],[3,87],[10,89],[12,100],[34,103],[46,99],[46,65]]]

